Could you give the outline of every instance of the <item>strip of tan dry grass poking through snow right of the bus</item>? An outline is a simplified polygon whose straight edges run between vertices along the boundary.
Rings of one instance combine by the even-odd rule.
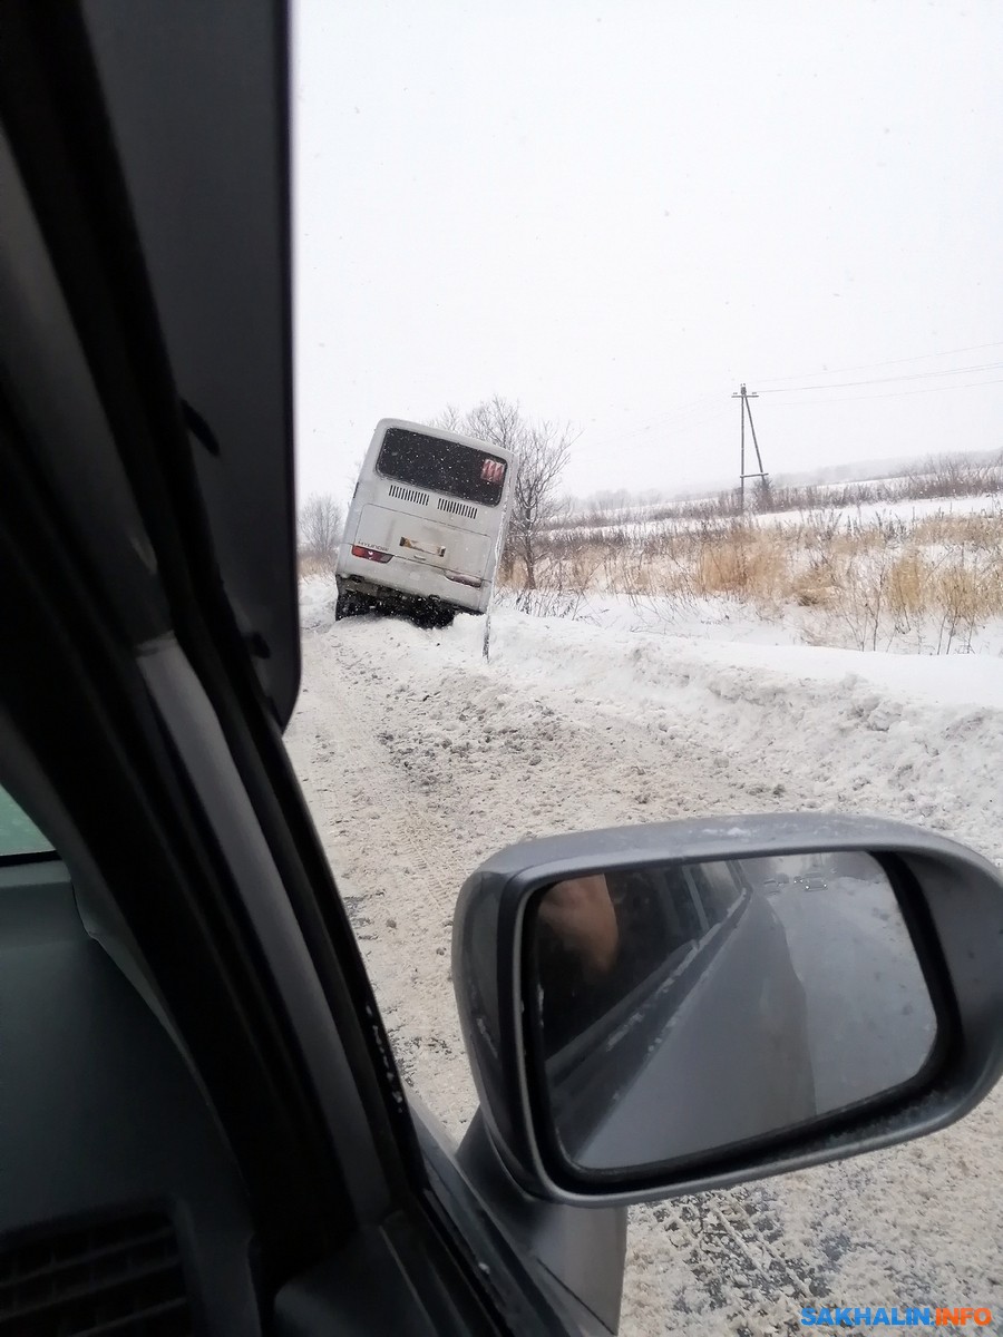
[[[508,572],[518,587],[519,572]],[[552,535],[527,607],[563,611],[604,591],[675,608],[734,600],[760,615],[798,610],[805,639],[861,650],[972,648],[1003,619],[1003,505],[917,520],[814,508],[784,524],[717,517]]]

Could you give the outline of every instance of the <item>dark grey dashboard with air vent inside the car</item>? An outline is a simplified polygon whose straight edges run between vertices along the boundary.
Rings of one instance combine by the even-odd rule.
[[[258,1333],[226,1140],[55,857],[0,865],[0,1332]]]

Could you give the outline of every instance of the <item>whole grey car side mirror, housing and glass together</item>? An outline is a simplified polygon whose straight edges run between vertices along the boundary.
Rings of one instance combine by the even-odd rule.
[[[893,822],[534,841],[453,920],[481,1108],[531,1193],[638,1202],[944,1127],[1003,1070],[1003,881]]]

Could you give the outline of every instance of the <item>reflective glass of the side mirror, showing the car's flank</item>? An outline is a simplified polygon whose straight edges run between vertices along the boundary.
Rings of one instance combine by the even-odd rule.
[[[579,877],[527,925],[534,1059],[582,1171],[833,1115],[915,1078],[933,1047],[912,939],[865,853]]]

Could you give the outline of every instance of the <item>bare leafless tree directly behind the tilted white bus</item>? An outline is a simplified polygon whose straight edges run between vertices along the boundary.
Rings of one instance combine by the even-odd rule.
[[[560,477],[578,432],[567,422],[534,422],[523,416],[519,404],[500,394],[464,414],[449,406],[431,425],[463,432],[519,456],[506,556],[522,563],[526,588],[535,590],[540,537],[558,517]]]

